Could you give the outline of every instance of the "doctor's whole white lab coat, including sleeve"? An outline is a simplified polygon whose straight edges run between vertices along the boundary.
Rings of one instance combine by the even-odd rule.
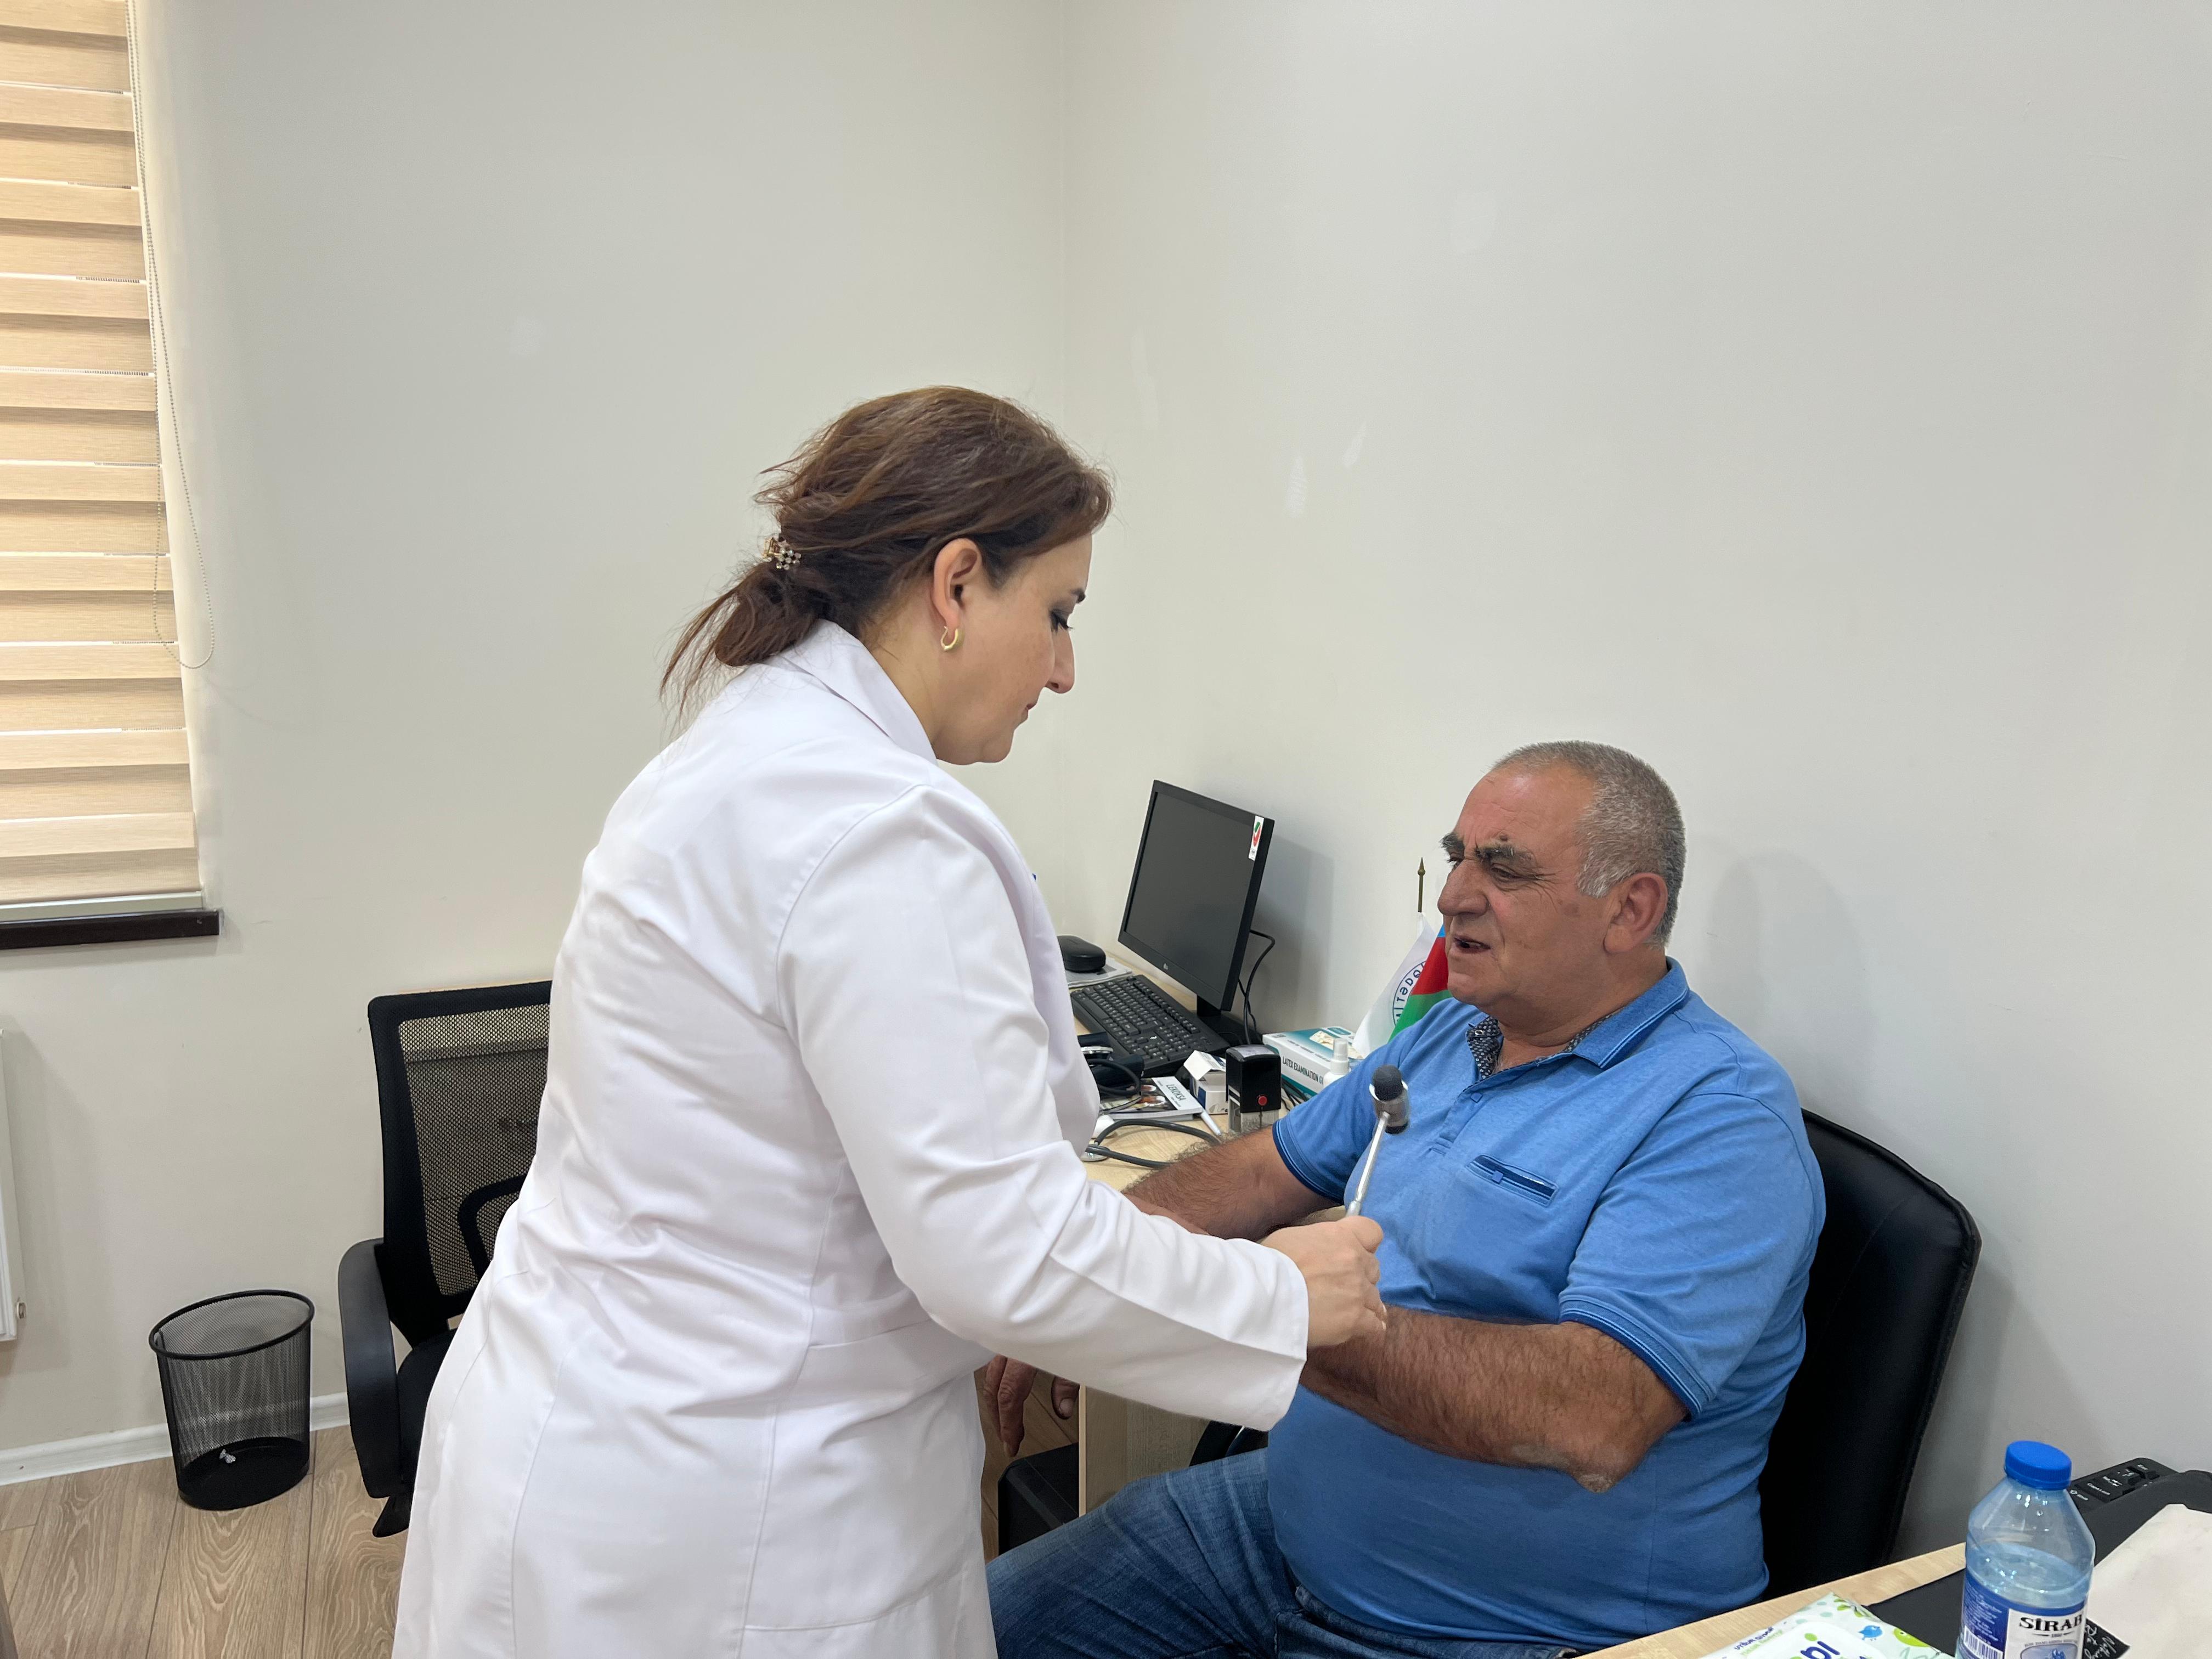
[[[615,803],[538,1159],[440,1369],[398,1659],[989,1659],[991,1349],[1272,1425],[1305,1290],[1084,1179],[1013,838],[858,639],[739,675]]]

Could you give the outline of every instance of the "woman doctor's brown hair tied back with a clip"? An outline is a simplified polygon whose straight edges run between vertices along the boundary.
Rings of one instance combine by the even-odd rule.
[[[956,385],[860,403],[768,471],[761,560],[677,639],[661,692],[697,701],[721,668],[790,650],[816,622],[860,633],[947,542],[982,549],[991,582],[1088,535],[1113,484],[1020,405]]]

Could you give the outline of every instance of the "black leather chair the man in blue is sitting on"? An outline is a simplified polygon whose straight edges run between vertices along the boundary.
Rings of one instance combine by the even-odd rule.
[[[1805,1363],[1759,1482],[1770,1595],[1891,1559],[1982,1256],[1966,1208],[1909,1164],[1814,1113],[1805,1137],[1827,1186],[1827,1225],[1805,1287]],[[1265,1444],[1256,1429],[1212,1422],[1190,1462]],[[1073,1458],[1020,1458],[1000,1475],[1002,1551],[1073,1517]]]

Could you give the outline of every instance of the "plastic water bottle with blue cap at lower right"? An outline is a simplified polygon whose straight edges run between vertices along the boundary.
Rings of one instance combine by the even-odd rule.
[[[2073,1460],[2057,1447],[2004,1449],[2004,1480],[1966,1517],[1958,1659],[2079,1659],[2097,1542],[2068,1480]]]

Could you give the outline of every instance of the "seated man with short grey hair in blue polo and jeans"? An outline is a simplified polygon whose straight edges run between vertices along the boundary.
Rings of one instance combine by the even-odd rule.
[[[1823,1186],[1790,1077],[1666,958],[1681,812],[1632,754],[1537,743],[1444,852],[1451,998],[1272,1135],[1130,1188],[1243,1239],[1340,1203],[1396,1064],[1389,1329],[1314,1354],[1267,1451],[993,1562],[1004,1659],[1553,1659],[1759,1597]]]

